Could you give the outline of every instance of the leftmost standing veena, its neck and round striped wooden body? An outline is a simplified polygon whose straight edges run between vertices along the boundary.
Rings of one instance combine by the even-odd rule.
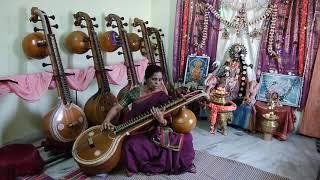
[[[42,22],[43,29],[34,28],[34,30],[44,31],[45,39],[41,41],[41,46],[48,48],[59,95],[59,103],[44,117],[43,129],[48,138],[58,142],[72,142],[87,129],[88,125],[82,109],[72,102],[56,38],[51,30],[51,27],[57,28],[58,25],[52,26],[49,18],[54,19],[54,16],[48,17],[44,11],[37,7],[31,9],[30,21]]]

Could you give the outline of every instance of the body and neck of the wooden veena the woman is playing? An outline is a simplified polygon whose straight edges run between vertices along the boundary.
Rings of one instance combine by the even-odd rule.
[[[208,95],[202,91],[194,92],[169,101],[159,108],[165,108],[165,114],[168,114],[201,97],[208,97]],[[115,126],[112,130],[102,132],[101,126],[91,127],[76,139],[72,155],[86,174],[95,175],[110,172],[120,160],[124,138],[131,132],[150,124],[153,120],[152,114],[148,111],[126,123]]]

